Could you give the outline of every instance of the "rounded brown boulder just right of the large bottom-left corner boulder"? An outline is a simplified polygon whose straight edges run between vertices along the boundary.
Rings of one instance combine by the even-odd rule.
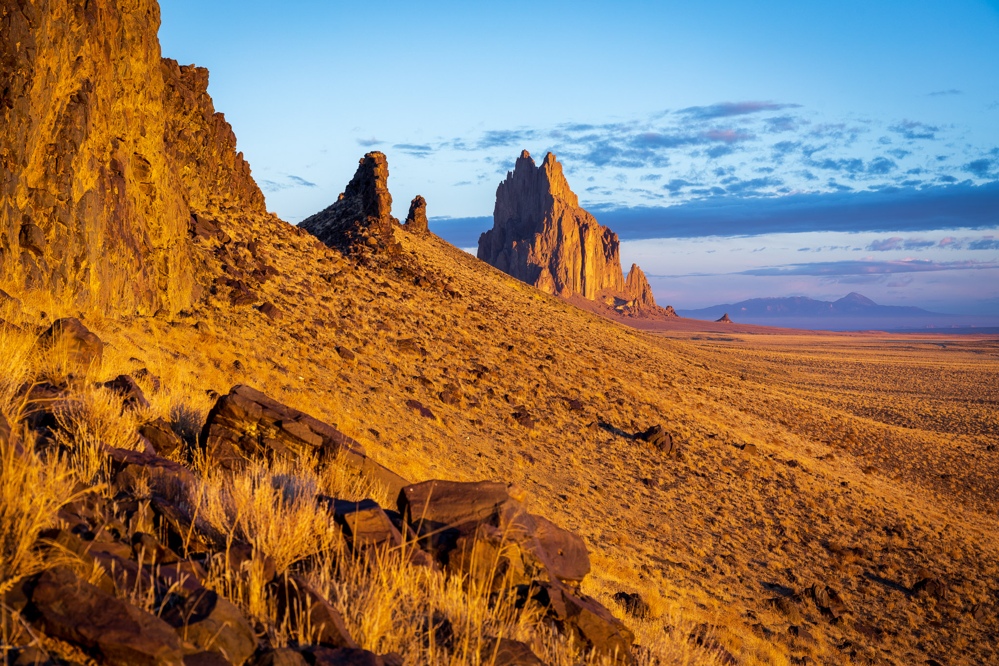
[[[240,610],[214,590],[189,591],[161,615],[198,650],[218,652],[241,666],[257,651],[257,636]]]

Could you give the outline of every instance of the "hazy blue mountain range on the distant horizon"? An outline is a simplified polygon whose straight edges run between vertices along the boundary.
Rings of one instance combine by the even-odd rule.
[[[852,292],[838,301],[816,301],[804,296],[783,299],[749,299],[739,303],[712,306],[700,310],[677,310],[680,317],[694,320],[716,320],[725,313],[733,322],[764,318],[865,318],[865,317],[952,317],[931,313],[922,308],[907,306],[879,306],[862,294]]]

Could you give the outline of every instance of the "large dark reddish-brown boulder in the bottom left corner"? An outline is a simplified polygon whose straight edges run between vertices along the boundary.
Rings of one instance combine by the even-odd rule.
[[[183,647],[162,619],[80,580],[49,569],[34,581],[25,609],[46,634],[113,666],[183,666]]]

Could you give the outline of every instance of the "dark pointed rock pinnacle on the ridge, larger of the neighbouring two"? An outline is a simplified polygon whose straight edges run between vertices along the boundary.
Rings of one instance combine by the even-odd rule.
[[[299,225],[331,248],[357,253],[365,247],[392,247],[394,225],[385,153],[368,153],[337,201]]]

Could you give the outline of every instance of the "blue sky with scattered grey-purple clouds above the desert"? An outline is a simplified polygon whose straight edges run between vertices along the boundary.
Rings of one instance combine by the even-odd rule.
[[[394,214],[475,252],[551,151],[661,305],[833,300],[999,318],[999,2],[163,0],[268,209],[368,151]]]

